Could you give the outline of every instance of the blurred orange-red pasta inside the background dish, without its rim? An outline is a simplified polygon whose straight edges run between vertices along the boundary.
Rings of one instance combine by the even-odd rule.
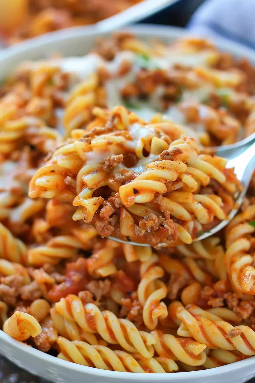
[[[6,45],[59,29],[97,23],[141,0],[3,0],[0,36]]]

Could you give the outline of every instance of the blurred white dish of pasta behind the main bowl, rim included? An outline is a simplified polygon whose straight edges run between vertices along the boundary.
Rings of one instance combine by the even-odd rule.
[[[172,5],[176,2],[181,5],[183,1],[186,0],[0,0],[0,39],[8,46],[58,29],[101,20],[103,25],[109,20],[107,29],[110,30],[145,20],[166,8],[167,13],[161,12],[157,20],[164,15],[165,19],[159,23],[169,24],[166,15],[171,14]],[[201,2],[195,0],[195,3],[197,1]],[[117,20],[116,16],[113,19],[114,15]]]

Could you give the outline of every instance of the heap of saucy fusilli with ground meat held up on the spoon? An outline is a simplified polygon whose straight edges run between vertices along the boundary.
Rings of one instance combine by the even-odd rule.
[[[84,132],[80,140],[58,149],[32,177],[31,198],[68,194],[78,207],[73,219],[93,223],[102,237],[115,232],[154,246],[191,243],[203,225],[226,218],[229,206],[223,195],[231,199],[239,190],[232,173],[229,179],[226,160],[199,155],[191,138],[172,141],[176,132],[171,123],[164,123],[163,132],[160,123],[146,125],[122,107],[96,113],[106,120],[104,128]],[[131,156],[133,166],[128,164]],[[200,193],[210,180],[219,183],[218,195],[216,190]]]

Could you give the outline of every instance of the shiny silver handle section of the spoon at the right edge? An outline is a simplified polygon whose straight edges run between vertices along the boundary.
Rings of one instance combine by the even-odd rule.
[[[244,152],[227,162],[226,168],[234,167],[237,179],[243,186],[249,186],[250,179],[255,169],[255,142]]]

